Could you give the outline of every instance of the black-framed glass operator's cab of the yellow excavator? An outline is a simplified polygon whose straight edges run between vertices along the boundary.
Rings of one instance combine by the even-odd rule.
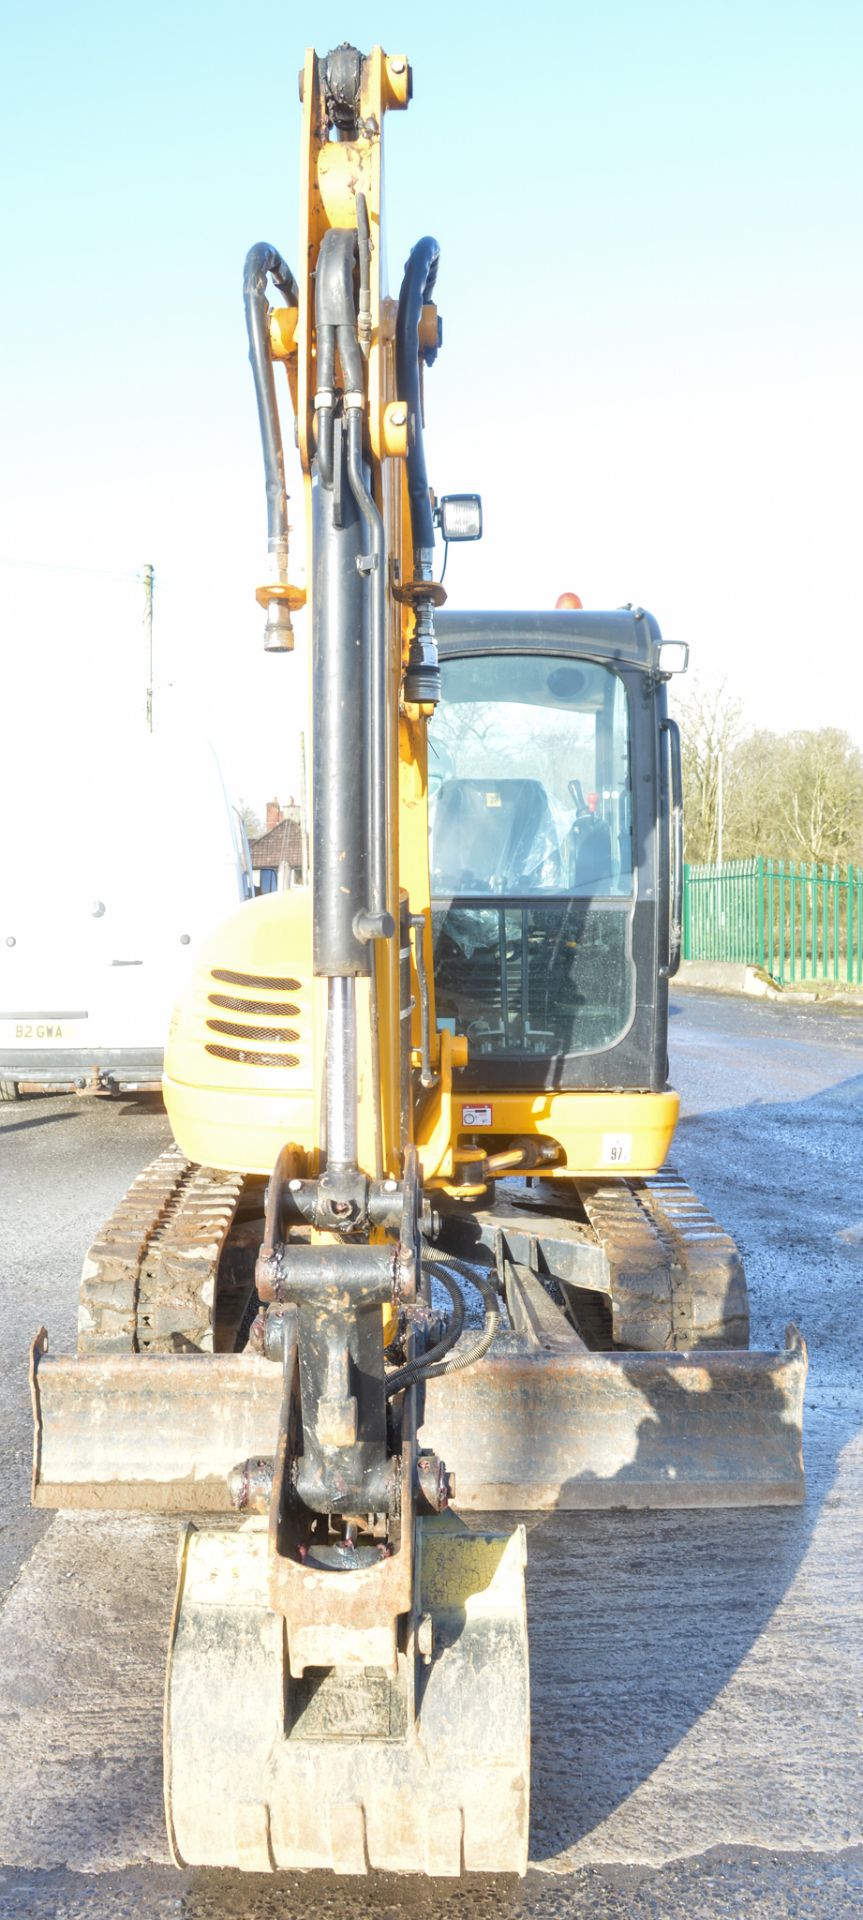
[[[438,645],[434,993],[461,1085],[661,1092],[682,868],[655,622],[440,614]]]

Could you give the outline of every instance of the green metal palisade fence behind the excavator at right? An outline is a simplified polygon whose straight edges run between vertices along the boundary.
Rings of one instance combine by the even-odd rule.
[[[863,868],[805,860],[684,866],[684,960],[738,960],[773,979],[863,981]]]

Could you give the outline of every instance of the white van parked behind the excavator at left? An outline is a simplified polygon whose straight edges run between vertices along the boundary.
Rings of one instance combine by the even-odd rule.
[[[211,747],[140,733],[42,764],[2,818],[2,1098],[158,1083],[196,943],[254,895]]]

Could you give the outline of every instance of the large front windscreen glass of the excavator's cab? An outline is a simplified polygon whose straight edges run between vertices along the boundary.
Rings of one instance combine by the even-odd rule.
[[[559,655],[444,660],[429,831],[438,1025],[473,1058],[611,1046],[634,996],[621,676]]]

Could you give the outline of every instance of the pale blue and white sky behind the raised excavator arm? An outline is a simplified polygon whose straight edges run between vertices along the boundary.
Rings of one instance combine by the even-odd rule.
[[[296,257],[296,73],[352,38],[413,63],[390,288],[434,232],[429,470],[486,509],[452,605],[640,601],[753,724],[863,743],[859,6],[46,0],[4,25],[0,612],[42,730],[138,710],[152,561],[158,699],[258,808],[296,787],[240,273],[252,240]]]

